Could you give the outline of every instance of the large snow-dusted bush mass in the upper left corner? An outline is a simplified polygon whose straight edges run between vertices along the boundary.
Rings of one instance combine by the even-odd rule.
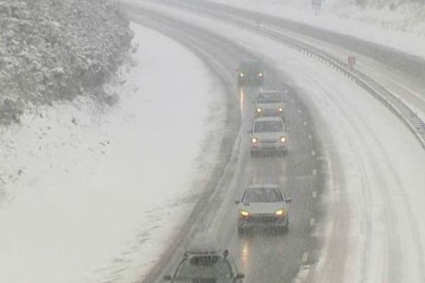
[[[0,123],[10,105],[98,93],[131,39],[108,0],[0,0]]]

